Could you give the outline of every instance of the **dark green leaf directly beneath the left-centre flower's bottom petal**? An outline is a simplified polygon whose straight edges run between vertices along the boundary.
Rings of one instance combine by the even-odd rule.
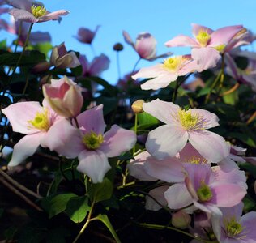
[[[113,184],[108,178],[104,178],[101,183],[90,183],[87,185],[87,193],[91,201],[98,203],[111,198],[113,194]]]

